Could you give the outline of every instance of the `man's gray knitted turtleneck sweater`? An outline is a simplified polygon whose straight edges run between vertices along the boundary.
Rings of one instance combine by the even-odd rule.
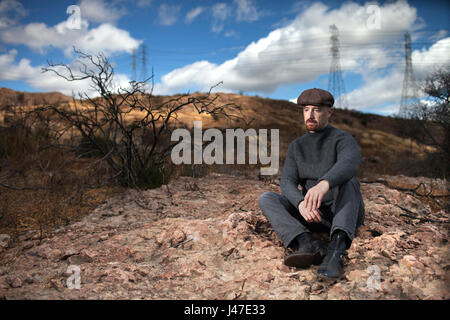
[[[330,124],[314,133],[307,131],[289,145],[281,174],[281,192],[298,208],[311,187],[327,180],[330,190],[322,203],[331,205],[332,188],[356,176],[360,161],[358,144],[349,133]]]

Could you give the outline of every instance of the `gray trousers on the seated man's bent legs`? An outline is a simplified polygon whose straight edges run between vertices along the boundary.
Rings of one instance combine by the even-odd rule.
[[[333,188],[333,201],[322,204],[322,221],[307,222],[298,208],[284,196],[275,192],[264,192],[258,199],[259,206],[269,220],[277,236],[287,248],[294,238],[304,232],[327,232],[340,229],[347,233],[351,241],[356,229],[364,223],[365,210],[360,185],[355,177]],[[347,245],[350,247],[350,244]]]

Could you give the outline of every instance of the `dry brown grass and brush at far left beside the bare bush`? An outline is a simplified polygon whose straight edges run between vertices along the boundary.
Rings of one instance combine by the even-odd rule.
[[[41,237],[89,214],[123,188],[102,184],[106,168],[55,145],[39,119],[17,112],[0,126],[0,233]]]

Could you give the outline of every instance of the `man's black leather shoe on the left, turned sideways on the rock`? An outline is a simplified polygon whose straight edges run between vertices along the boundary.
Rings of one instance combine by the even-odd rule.
[[[296,238],[298,249],[286,256],[284,264],[288,267],[306,268],[311,264],[319,264],[324,257],[323,244],[313,240],[311,234],[302,233]]]

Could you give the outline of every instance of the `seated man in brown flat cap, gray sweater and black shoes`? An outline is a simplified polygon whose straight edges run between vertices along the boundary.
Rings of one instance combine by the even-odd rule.
[[[334,111],[331,93],[305,90],[297,104],[303,107],[307,132],[289,145],[282,194],[265,192],[259,205],[285,247],[294,251],[285,258],[286,265],[320,264],[320,275],[339,278],[342,255],[365,217],[356,178],[361,155],[350,134],[328,123]],[[328,247],[313,239],[313,231],[329,232]]]

